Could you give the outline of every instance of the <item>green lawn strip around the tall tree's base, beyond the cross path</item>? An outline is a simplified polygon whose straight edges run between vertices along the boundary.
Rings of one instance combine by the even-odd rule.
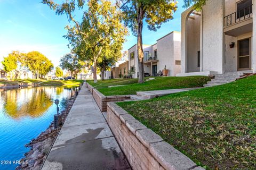
[[[119,80],[119,81],[118,81]],[[145,83],[138,84],[138,79],[113,79],[99,81],[94,84],[89,81],[92,86],[97,88],[103,95],[134,95],[137,91],[149,90],[165,90],[165,89],[178,89],[178,88],[192,88],[203,87],[210,79],[202,76],[191,77],[156,77],[155,80],[145,81]],[[111,85],[109,85],[111,84]],[[120,87],[103,88],[113,85],[124,85]]]

